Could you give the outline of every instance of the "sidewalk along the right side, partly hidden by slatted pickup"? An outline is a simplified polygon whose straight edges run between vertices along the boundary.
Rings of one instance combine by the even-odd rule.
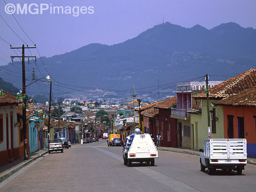
[[[197,155],[200,156],[201,152],[192,150],[192,149],[185,149],[185,148],[174,148],[174,147],[157,147],[158,150],[161,151],[172,151],[175,153],[183,153],[183,154],[191,154],[191,155]],[[247,163],[256,165],[256,159],[247,157]]]

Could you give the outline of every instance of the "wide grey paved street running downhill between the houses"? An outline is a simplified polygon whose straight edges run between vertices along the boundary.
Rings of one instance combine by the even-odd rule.
[[[155,166],[125,166],[122,147],[106,140],[73,145],[64,153],[47,154],[0,183],[0,192],[221,192],[254,191],[256,166],[242,175],[200,171],[199,157],[159,151]]]

